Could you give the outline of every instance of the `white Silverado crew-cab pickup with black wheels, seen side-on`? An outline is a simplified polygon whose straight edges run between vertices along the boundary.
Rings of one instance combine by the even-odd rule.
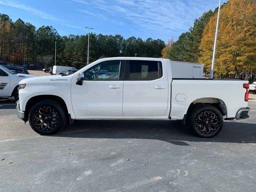
[[[172,119],[212,137],[223,120],[249,117],[248,88],[244,80],[172,78],[168,59],[103,58],[69,76],[20,81],[16,108],[39,134],[74,120]]]

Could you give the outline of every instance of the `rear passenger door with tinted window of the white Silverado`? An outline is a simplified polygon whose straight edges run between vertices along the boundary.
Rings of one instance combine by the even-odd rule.
[[[126,60],[124,116],[162,116],[168,108],[168,78],[160,61]]]

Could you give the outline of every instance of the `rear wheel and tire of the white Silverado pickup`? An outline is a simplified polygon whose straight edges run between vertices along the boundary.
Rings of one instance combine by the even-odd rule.
[[[216,107],[203,104],[191,110],[187,123],[196,136],[210,138],[221,131],[223,116]]]

